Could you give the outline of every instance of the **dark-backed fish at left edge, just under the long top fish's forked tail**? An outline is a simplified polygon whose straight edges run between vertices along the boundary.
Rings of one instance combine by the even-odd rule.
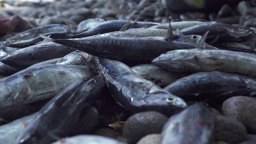
[[[63,46],[54,42],[45,42],[16,50],[0,61],[16,68],[27,68],[38,62],[61,58],[75,50],[75,48],[69,46]]]

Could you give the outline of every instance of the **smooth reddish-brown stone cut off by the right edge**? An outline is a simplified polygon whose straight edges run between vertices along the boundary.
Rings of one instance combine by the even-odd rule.
[[[255,19],[256,20],[256,19]],[[256,23],[256,21],[255,21]],[[256,98],[249,96],[234,96],[222,104],[222,112],[240,121],[248,131],[256,133]]]

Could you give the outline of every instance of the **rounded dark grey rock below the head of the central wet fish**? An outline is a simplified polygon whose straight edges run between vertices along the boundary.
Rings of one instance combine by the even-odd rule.
[[[129,143],[136,143],[147,134],[160,133],[167,121],[168,117],[159,112],[139,112],[126,120],[123,136]]]

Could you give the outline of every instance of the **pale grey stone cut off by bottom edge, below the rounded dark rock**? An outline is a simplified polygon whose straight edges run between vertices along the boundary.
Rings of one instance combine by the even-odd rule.
[[[161,134],[148,134],[142,137],[136,144],[161,144]]]

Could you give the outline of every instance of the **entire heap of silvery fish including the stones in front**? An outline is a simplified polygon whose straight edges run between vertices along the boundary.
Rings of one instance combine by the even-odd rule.
[[[100,18],[17,33],[1,42],[0,143],[253,143],[255,38]]]

